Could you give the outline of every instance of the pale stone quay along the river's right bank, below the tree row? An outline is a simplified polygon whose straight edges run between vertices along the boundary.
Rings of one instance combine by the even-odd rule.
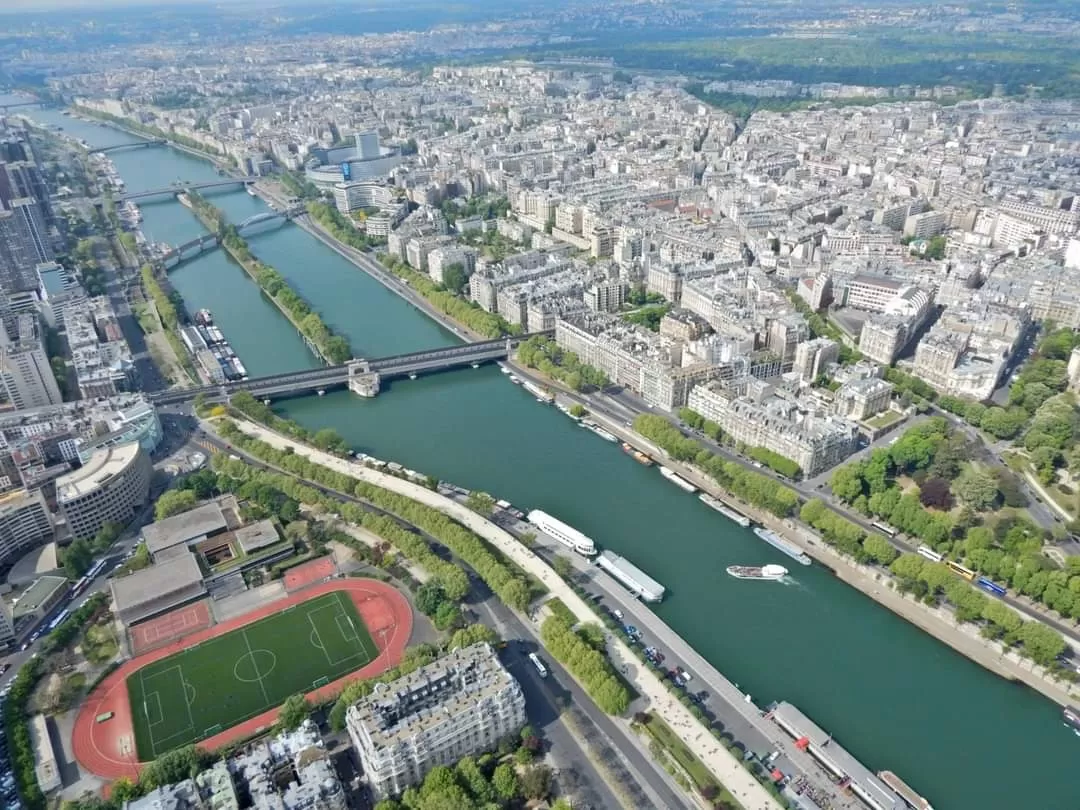
[[[557,387],[559,392],[569,400],[581,404],[605,430],[610,431],[620,441],[625,442],[654,459],[660,459],[666,467],[684,476],[699,489],[721,500],[732,509],[746,514],[757,523],[777,531],[806,551],[818,563],[828,568],[840,581],[851,585],[879,605],[888,608],[896,616],[905,619],[934,638],[951,647],[957,652],[980,664],[1007,680],[1022,683],[1031,687],[1040,694],[1063,706],[1080,701],[1080,687],[1064,684],[1051,678],[1043,667],[1032,661],[1021,658],[1015,652],[1007,650],[1001,644],[978,634],[976,625],[960,623],[951,610],[923,605],[895,590],[894,580],[880,569],[863,566],[843,556],[827,543],[822,541],[809,528],[793,519],[782,519],[734,498],[730,492],[717,486],[716,482],[696,467],[675,461],[667,457],[660,447],[649,442],[643,435],[627,428],[625,422],[600,413],[595,403],[580,393],[567,389],[556,380],[549,379],[525,367],[519,363],[510,362],[514,373],[523,379],[530,379],[539,384]]]

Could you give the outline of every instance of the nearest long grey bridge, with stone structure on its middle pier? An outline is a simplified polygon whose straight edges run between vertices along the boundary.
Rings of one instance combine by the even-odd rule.
[[[550,335],[551,332],[536,333]],[[448,368],[460,368],[473,363],[489,363],[510,356],[514,348],[532,335],[483,340],[463,346],[433,349],[430,351],[396,354],[379,360],[353,361],[339,366],[327,366],[314,370],[291,372],[275,374],[269,377],[255,377],[238,382],[226,382],[222,386],[203,386],[201,388],[174,389],[149,394],[154,405],[179,405],[191,402],[202,394],[205,399],[227,400],[240,391],[247,391],[253,396],[264,400],[280,396],[296,396],[333,388],[343,388],[349,383],[350,366],[362,363],[367,369],[375,372],[382,379],[394,379],[409,375],[430,374]]]

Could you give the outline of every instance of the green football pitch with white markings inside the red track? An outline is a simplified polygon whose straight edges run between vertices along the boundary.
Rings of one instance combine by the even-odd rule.
[[[352,599],[334,592],[147,664],[127,678],[139,759],[213,737],[377,654]]]

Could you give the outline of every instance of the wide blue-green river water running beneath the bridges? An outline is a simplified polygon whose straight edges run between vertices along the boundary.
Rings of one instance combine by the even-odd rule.
[[[126,137],[58,112],[36,114],[91,144]],[[113,160],[132,189],[214,176],[207,164],[165,149]],[[216,200],[234,221],[264,210],[243,192]],[[178,204],[144,212],[154,240],[176,244],[199,231]],[[299,228],[251,241],[357,355],[454,341]],[[189,307],[214,311],[253,374],[315,362],[220,253],[181,266],[175,284]],[[1054,704],[990,675],[823,568],[793,564],[495,368],[395,382],[373,401],[341,392],[281,409],[309,428],[337,429],[357,449],[548,510],[626,555],[667,586],[660,616],[759,704],[795,703],[865,765],[895,771],[937,810],[1077,806],[1080,740]],[[724,572],[764,563],[788,566],[794,582]]]

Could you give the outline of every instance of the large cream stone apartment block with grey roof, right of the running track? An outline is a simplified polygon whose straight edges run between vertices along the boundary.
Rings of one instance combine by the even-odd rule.
[[[456,649],[379,684],[346,713],[377,799],[420,783],[435,766],[492,748],[524,724],[521,686],[488,644]]]

